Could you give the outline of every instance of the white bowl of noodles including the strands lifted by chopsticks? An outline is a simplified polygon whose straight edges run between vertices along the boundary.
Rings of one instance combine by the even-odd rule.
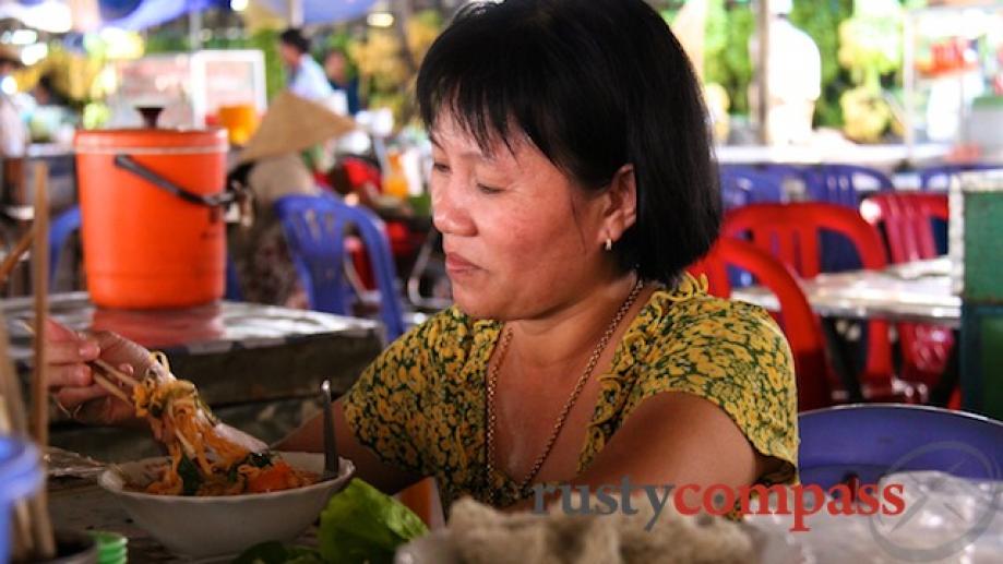
[[[167,451],[112,466],[98,483],[170,551],[217,556],[292,540],[348,483],[349,460],[338,461],[337,476],[325,476],[322,454],[270,451],[219,421],[195,385],[170,372],[166,356],[153,358],[141,379],[107,363],[92,367],[100,371],[95,381],[100,376],[109,393],[130,403]]]

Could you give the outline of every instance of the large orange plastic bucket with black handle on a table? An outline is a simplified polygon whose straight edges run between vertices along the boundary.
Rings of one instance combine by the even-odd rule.
[[[75,148],[94,303],[165,309],[222,298],[226,131],[79,131]]]

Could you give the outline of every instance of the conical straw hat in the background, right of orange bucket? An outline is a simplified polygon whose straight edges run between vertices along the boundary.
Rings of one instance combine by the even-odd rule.
[[[298,153],[356,129],[350,118],[289,91],[272,100],[254,135],[240,153],[240,161]]]

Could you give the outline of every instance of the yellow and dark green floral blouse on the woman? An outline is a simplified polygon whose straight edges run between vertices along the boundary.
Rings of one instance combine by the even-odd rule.
[[[486,476],[485,385],[500,329],[456,308],[440,312],[384,350],[344,401],[358,440],[389,465],[435,477],[445,507],[461,495],[499,506],[532,495],[501,470]],[[685,392],[720,406],[756,451],[783,460],[759,482],[796,480],[793,362],[765,310],[707,296],[686,276],[652,295],[599,379],[580,472],[642,401]]]

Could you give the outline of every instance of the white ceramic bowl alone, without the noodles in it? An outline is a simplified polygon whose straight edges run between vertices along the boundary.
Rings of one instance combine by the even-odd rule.
[[[320,473],[324,455],[279,453],[294,468]],[[306,488],[270,493],[193,497],[154,495],[124,489],[126,481],[145,484],[166,458],[146,458],[109,468],[98,478],[126,513],[168,550],[188,556],[237,554],[259,542],[290,541],[302,533],[351,479],[355,466],[344,458],[338,477]]]

